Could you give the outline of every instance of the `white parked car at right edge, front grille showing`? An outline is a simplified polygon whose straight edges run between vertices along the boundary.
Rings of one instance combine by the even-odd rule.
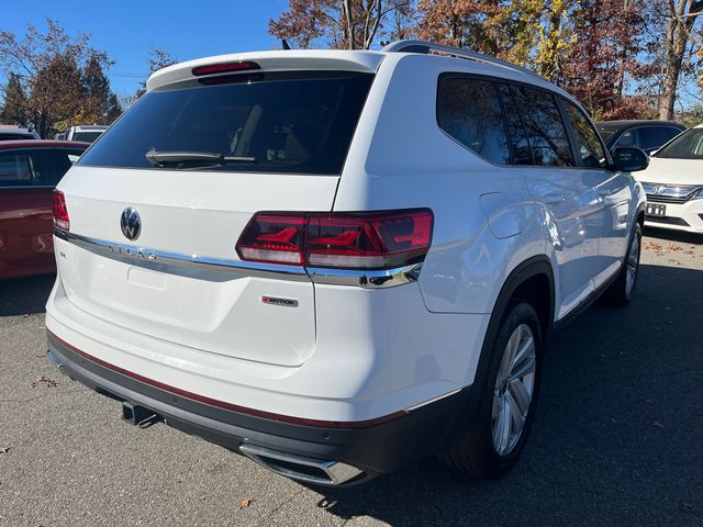
[[[655,152],[637,179],[647,193],[647,225],[703,233],[703,125]]]

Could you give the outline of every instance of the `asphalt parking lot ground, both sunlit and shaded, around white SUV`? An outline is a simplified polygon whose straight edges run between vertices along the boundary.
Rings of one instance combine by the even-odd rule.
[[[46,361],[53,278],[2,282],[0,525],[702,525],[703,239],[646,234],[635,302],[596,305],[559,336],[524,457],[488,484],[428,459],[320,491],[129,426]]]

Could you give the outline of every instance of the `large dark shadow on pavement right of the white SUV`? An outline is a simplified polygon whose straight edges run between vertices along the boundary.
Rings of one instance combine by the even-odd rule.
[[[507,476],[478,483],[426,459],[316,489],[319,506],[390,525],[701,525],[703,271],[640,272],[631,306],[596,305],[555,339],[531,439]]]

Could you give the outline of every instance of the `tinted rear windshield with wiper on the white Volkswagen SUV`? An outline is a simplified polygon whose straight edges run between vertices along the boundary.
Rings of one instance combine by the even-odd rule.
[[[269,72],[188,81],[144,94],[81,166],[331,173],[342,167],[373,76]],[[160,164],[188,154],[228,160]],[[212,156],[211,156],[212,155]]]

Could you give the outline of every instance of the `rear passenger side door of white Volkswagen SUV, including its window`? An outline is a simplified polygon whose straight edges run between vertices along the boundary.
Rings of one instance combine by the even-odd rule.
[[[502,85],[501,92],[527,188],[549,214],[559,268],[557,314],[562,316],[593,290],[592,278],[600,269],[600,178],[578,166],[554,94],[517,85]]]

